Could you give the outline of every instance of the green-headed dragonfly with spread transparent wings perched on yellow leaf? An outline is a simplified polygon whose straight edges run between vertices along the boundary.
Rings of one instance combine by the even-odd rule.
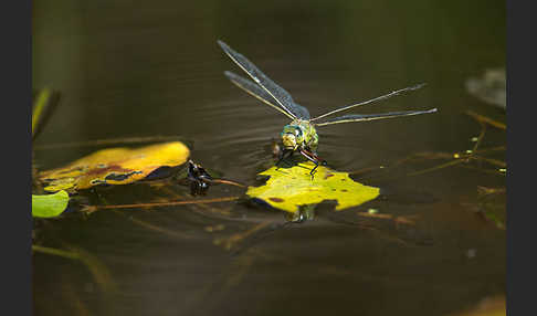
[[[404,92],[414,91],[424,86],[424,83],[392,91],[388,94],[355,103],[351,105],[343,106],[312,118],[306,107],[294,102],[291,94],[283,87],[277,85],[268,76],[266,76],[257,66],[249,61],[244,55],[235,52],[228,44],[222,41],[218,41],[218,44],[222,48],[225,54],[241,67],[252,81],[244,78],[238,74],[225,71],[224,75],[238,87],[242,88],[250,95],[256,97],[264,104],[273,107],[283,115],[287,116],[292,122],[284,126],[280,134],[283,144],[283,150],[280,154],[280,159],[276,166],[285,158],[289,158],[294,152],[298,151],[306,159],[315,164],[315,167],[310,170],[310,175],[315,173],[315,170],[320,165],[326,166],[326,160],[320,159],[317,156],[317,147],[319,137],[317,135],[317,127],[328,126],[340,123],[351,122],[368,122],[376,119],[393,118],[401,116],[412,116],[420,114],[435,113],[436,108],[425,110],[403,110],[403,112],[389,112],[381,114],[350,114],[343,115],[333,118],[328,118],[336,113],[348,110],[358,106],[370,104],[373,102],[387,99],[389,97],[399,95]]]

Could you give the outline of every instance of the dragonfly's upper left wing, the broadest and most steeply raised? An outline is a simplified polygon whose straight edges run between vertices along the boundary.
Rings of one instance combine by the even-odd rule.
[[[278,86],[270,77],[267,77],[262,71],[260,71],[251,61],[249,61],[242,54],[233,51],[228,44],[222,41],[218,41],[222,50],[230,56],[230,59],[235,62],[250,77],[262,87],[267,94],[270,94],[280,106],[294,118],[304,118],[305,115],[304,107],[294,103],[293,97],[283,87]],[[309,113],[308,113],[309,118]]]

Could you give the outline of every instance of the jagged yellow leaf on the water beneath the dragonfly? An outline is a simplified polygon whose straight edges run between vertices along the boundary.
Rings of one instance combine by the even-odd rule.
[[[364,186],[349,178],[347,172],[319,166],[314,178],[309,175],[315,165],[298,164],[292,168],[272,167],[260,173],[270,176],[264,186],[249,187],[246,194],[261,199],[276,209],[296,212],[301,206],[336,200],[336,210],[344,210],[370,201],[379,196],[379,188]]]

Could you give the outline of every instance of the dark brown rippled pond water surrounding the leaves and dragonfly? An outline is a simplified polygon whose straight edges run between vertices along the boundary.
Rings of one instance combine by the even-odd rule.
[[[36,162],[50,169],[101,148],[39,149],[44,145],[178,135],[193,143],[197,162],[254,183],[287,119],[227,81],[223,71],[240,70],[218,39],[314,116],[428,83],[356,112],[438,107],[438,114],[319,128],[319,155],[331,168],[464,151],[481,130],[465,110],[504,119],[464,87],[467,77],[505,65],[504,8],[503,1],[38,1],[33,85],[57,88],[63,98],[35,143]],[[481,147],[503,145],[505,133],[488,128]],[[34,254],[35,315],[448,315],[505,294],[505,231],[468,207],[478,202],[477,186],[503,187],[504,176],[452,167],[357,180],[391,196],[338,213],[320,206],[314,221],[246,239],[238,253],[214,241],[281,224],[283,214],[228,202],[41,223],[39,244],[81,249],[103,267],[92,273],[78,261]],[[242,192],[220,186],[207,198]],[[134,185],[99,194],[130,203],[188,190]],[[369,208],[414,224],[357,215]]]

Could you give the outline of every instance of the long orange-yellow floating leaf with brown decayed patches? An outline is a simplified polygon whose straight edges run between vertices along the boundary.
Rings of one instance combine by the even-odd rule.
[[[190,151],[180,141],[137,149],[110,148],[96,151],[65,167],[40,175],[46,191],[82,190],[97,185],[127,185],[146,178],[161,167],[183,164]]]

